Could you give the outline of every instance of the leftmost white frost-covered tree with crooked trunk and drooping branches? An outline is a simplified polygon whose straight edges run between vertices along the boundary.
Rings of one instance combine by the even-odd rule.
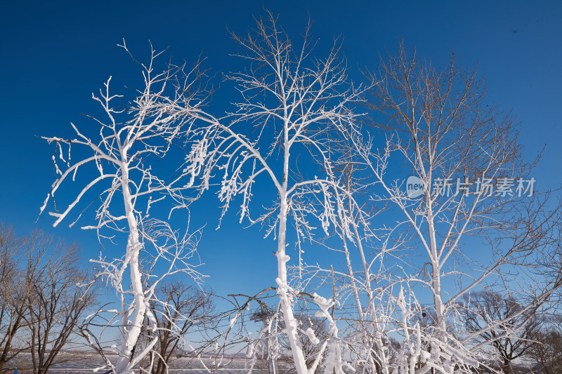
[[[124,43],[122,48],[129,53]],[[161,54],[151,46],[148,65],[133,59],[141,69],[143,86],[131,89],[132,98],[112,93],[111,78],[98,95],[92,94],[103,108],[105,119],[90,116],[93,126],[88,131],[72,124],[74,138],[44,138],[55,146],[53,166],[58,178],[41,212],[53,201],[54,209],[49,214],[55,218],[53,226],[57,226],[75,210],[84,209],[74,214],[72,227],[84,211],[93,208],[95,223],[82,229],[97,230],[102,241],[107,239],[104,245],[109,244],[94,262],[100,267],[98,278],[115,289],[119,307],[92,316],[104,321],[86,323],[83,334],[103,354],[107,367],[119,374],[133,373],[157,343],[159,326],[150,305],[166,302],[158,300],[155,293],[162,279],[178,273],[202,277],[197,264],[191,263],[199,233],[181,234],[166,222],[174,209],[185,208],[192,200],[185,191],[193,185],[195,171],[178,173],[170,166],[171,159],[166,163],[161,160],[189,138],[197,120],[211,121],[202,112],[208,93],[201,84],[198,63],[192,68],[167,65],[157,72]],[[72,189],[73,184],[81,187]],[[58,193],[64,186],[68,190]],[[74,198],[65,201],[63,210],[58,211],[55,196],[64,200],[72,194]],[[88,196],[90,202],[85,201]],[[154,206],[158,201],[162,203]],[[57,203],[60,206],[60,200]],[[117,248],[112,247],[114,243]],[[150,342],[136,350],[145,319]],[[103,346],[100,331],[91,332],[89,326],[106,325],[103,333],[112,330],[115,321],[119,341]],[[118,354],[115,366],[107,353]]]

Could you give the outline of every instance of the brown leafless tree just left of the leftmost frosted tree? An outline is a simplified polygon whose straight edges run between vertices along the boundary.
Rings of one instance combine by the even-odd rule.
[[[88,271],[79,265],[77,245],[65,245],[52,236],[36,233],[29,239],[28,264],[39,269],[27,298],[27,328],[34,374],[46,374],[56,363],[76,356],[61,354],[96,300]]]

